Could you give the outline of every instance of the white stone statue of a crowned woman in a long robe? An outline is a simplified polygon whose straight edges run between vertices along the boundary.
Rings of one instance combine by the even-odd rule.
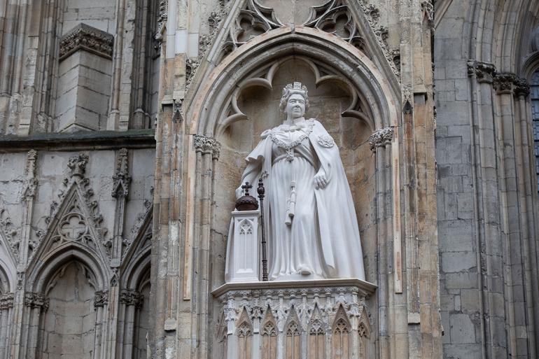
[[[262,132],[241,178],[253,185],[264,181],[269,280],[365,280],[339,149],[320,122],[304,118],[308,108],[307,88],[286,85],[280,104],[286,120]],[[236,195],[243,195],[241,187]]]

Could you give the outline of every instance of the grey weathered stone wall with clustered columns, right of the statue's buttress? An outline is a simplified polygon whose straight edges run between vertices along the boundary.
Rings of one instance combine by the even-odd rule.
[[[539,211],[527,84],[537,68],[528,62],[533,4],[437,3],[444,358],[537,356]]]

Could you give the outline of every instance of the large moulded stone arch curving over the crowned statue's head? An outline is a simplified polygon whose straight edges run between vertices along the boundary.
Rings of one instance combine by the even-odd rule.
[[[193,94],[194,102],[188,108],[192,119],[190,134],[215,136],[217,122],[227,105],[225,102],[249,73],[258,71],[260,64],[292,55],[303,55],[332,66],[347,78],[351,85],[370,101],[375,128],[395,126],[398,123],[400,98],[398,83],[382,75],[378,67],[360,50],[346,41],[309,27],[279,27],[256,36],[237,48],[209,73],[204,87]],[[234,69],[234,71],[232,71]],[[232,75],[233,74],[233,75]],[[271,86],[269,83],[246,83],[243,85]]]

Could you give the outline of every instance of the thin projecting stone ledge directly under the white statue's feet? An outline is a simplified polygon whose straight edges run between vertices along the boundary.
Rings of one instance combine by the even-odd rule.
[[[294,289],[323,288],[323,287],[357,287],[365,297],[374,294],[378,288],[376,285],[356,278],[346,279],[319,279],[314,281],[267,281],[267,282],[243,282],[225,283],[211,292],[214,297],[230,292],[231,290],[261,290],[261,289]]]

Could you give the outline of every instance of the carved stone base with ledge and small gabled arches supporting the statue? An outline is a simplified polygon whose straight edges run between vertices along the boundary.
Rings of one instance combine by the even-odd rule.
[[[365,299],[376,286],[358,279],[227,283],[218,342],[226,359],[363,359],[374,356]]]

